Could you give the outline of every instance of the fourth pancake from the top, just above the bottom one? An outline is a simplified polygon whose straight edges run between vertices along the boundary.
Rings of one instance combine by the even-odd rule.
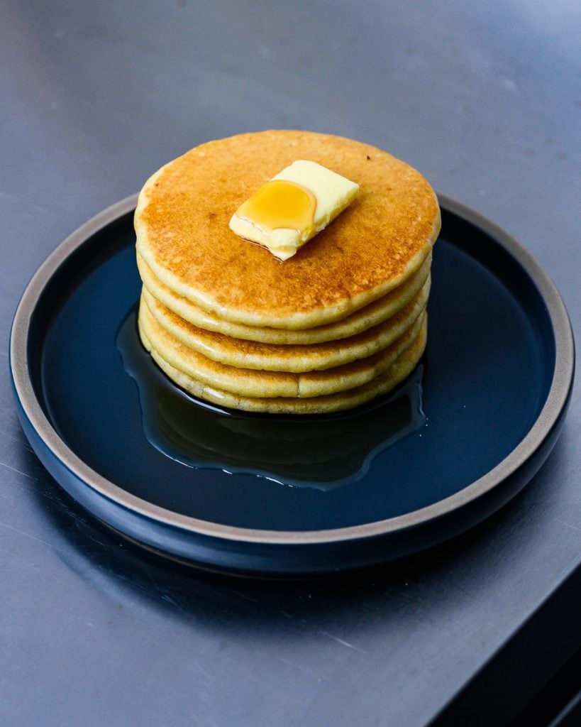
[[[146,348],[157,355],[154,357],[155,361],[161,358],[173,369],[195,379],[200,385],[216,387],[244,398],[309,398],[365,385],[389,369],[403,351],[413,344],[423,327],[424,318],[425,314],[422,313],[397,341],[373,356],[325,371],[296,374],[287,371],[241,369],[212,361],[211,358],[188,348],[163,329],[143,301],[139,306],[142,341]],[[174,381],[182,385],[180,378],[175,378]]]

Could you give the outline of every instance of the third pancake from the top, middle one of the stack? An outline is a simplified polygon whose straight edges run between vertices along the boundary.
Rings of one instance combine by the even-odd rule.
[[[266,371],[313,371],[330,369],[372,356],[397,340],[426,308],[430,279],[420,292],[394,316],[373,328],[339,341],[311,345],[280,345],[238,340],[205,331],[176,316],[144,289],[143,299],[163,329],[192,350],[227,366]]]

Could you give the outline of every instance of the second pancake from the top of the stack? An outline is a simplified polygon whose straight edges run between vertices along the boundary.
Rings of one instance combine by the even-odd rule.
[[[341,321],[305,329],[304,331],[289,331],[269,327],[257,328],[256,326],[245,326],[225,321],[224,318],[219,318],[215,313],[203,310],[203,308],[195,305],[182,295],[177,295],[171,291],[168,286],[163,285],[139,254],[137,255],[137,267],[147,292],[155,300],[165,305],[166,308],[176,313],[177,316],[183,318],[184,321],[188,321],[194,326],[198,326],[198,328],[246,341],[283,345],[308,345],[354,336],[372,326],[383,323],[390,316],[394,316],[398,310],[412,300],[426,282],[431,268],[431,252],[428,253],[418,272],[407,278],[396,289],[366,305],[365,308],[360,308]]]

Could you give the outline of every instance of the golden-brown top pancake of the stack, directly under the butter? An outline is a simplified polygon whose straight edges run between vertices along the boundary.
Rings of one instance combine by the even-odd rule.
[[[299,158],[361,189],[328,228],[280,262],[228,222]],[[139,254],[169,289],[227,321],[288,330],[341,320],[402,284],[439,225],[434,192],[415,169],[373,146],[301,131],[198,146],[147,180],[135,213]]]

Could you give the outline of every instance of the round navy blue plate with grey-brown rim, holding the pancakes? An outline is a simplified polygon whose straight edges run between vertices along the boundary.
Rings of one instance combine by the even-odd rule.
[[[155,369],[131,317],[135,198],[105,210],[46,260],[15,315],[15,398],[38,457],[127,537],[225,571],[352,569],[482,521],[552,449],[573,339],[530,254],[440,201],[415,377],[380,407],[301,422],[203,409]]]

